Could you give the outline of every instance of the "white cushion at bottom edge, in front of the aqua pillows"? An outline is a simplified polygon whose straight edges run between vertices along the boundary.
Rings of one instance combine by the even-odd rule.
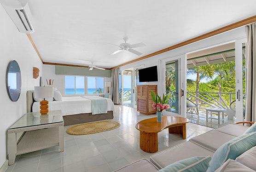
[[[255,172],[254,170],[240,164],[237,161],[228,159],[224,164],[220,166],[215,172]]]

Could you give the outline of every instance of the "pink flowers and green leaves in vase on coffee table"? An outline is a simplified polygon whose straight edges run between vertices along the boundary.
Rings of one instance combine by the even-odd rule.
[[[168,99],[170,98],[170,94],[167,94],[166,96],[163,94],[163,97],[155,95],[153,91],[151,91],[151,97],[154,101],[152,104],[152,107],[154,109],[157,109],[158,112],[162,112],[165,109],[169,109]]]

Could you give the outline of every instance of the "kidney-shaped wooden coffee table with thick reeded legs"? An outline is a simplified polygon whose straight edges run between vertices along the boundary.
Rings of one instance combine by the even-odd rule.
[[[140,149],[147,153],[157,152],[157,133],[166,128],[169,128],[169,133],[181,134],[183,139],[186,139],[188,122],[190,120],[178,116],[162,116],[162,122],[157,122],[157,117],[141,120],[135,126],[140,131]]]

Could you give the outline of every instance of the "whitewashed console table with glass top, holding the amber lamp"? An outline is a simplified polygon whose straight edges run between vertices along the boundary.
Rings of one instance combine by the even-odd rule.
[[[17,132],[23,135],[17,142]],[[14,164],[16,155],[58,146],[64,151],[64,122],[61,110],[29,112],[8,129],[9,166]]]

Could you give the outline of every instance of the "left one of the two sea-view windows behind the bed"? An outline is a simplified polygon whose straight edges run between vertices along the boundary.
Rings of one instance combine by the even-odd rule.
[[[84,94],[84,76],[65,76],[65,94]]]

